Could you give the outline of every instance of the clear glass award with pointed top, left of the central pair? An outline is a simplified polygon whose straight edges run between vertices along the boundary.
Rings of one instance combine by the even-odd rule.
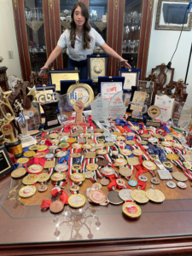
[[[96,99],[90,103],[91,118],[98,121],[104,121],[108,119],[108,100],[102,98],[99,94]]]

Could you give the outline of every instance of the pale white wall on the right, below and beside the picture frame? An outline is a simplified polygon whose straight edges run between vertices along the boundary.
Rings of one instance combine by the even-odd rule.
[[[147,76],[151,73],[151,68],[156,67],[161,63],[168,63],[176,49],[177,40],[180,31],[163,31],[154,30],[156,12],[157,12],[158,0],[154,0],[154,15],[151,28],[151,38],[148,52],[148,66]],[[186,68],[189,61],[189,51],[192,43],[192,31],[182,32],[177,51],[172,59],[172,67],[175,68],[174,80],[185,79]],[[188,79],[186,82],[187,87],[187,104],[192,106],[191,95],[192,95],[192,57],[189,66]]]

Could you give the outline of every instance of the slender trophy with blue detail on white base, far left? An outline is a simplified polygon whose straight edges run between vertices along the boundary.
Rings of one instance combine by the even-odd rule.
[[[37,140],[28,134],[27,120],[29,119],[29,117],[23,114],[24,109],[22,108],[21,104],[22,102],[19,102],[19,101],[15,101],[14,103],[15,110],[16,111],[18,111],[18,109],[20,110],[20,113],[19,113],[20,117],[15,118],[15,121],[20,126],[21,134],[19,135],[19,138],[22,144],[22,148],[26,148],[28,146],[36,144]]]

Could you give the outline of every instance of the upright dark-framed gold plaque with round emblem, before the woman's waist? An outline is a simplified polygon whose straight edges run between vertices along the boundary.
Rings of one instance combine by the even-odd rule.
[[[108,55],[87,55],[87,79],[93,84],[98,83],[98,77],[105,77],[108,73]]]

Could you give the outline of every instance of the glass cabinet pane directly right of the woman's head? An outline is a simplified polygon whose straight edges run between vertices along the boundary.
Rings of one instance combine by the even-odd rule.
[[[108,32],[108,0],[90,0],[90,26],[99,32],[107,43]],[[104,53],[96,46],[94,53]]]

